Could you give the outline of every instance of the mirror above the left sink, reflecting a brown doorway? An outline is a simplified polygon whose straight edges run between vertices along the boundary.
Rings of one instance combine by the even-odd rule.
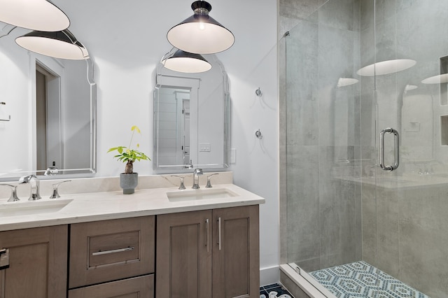
[[[0,23],[0,180],[94,173],[92,61],[29,52],[15,43],[29,30],[13,28]]]

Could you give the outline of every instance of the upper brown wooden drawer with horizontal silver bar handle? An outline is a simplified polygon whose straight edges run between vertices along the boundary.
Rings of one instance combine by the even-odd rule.
[[[154,272],[155,218],[71,225],[69,288]]]

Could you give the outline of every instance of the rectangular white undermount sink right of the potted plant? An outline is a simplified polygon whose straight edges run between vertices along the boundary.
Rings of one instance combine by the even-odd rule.
[[[199,190],[176,190],[167,192],[169,201],[193,201],[200,199],[222,199],[239,195],[227,188],[204,188]]]

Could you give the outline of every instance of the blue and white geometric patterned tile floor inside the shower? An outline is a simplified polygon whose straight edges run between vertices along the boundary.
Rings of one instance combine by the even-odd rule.
[[[309,274],[338,298],[429,298],[363,261]]]

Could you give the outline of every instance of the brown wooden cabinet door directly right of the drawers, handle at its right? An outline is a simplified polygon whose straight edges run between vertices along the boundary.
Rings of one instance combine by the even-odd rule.
[[[211,211],[158,215],[155,297],[211,297]]]

